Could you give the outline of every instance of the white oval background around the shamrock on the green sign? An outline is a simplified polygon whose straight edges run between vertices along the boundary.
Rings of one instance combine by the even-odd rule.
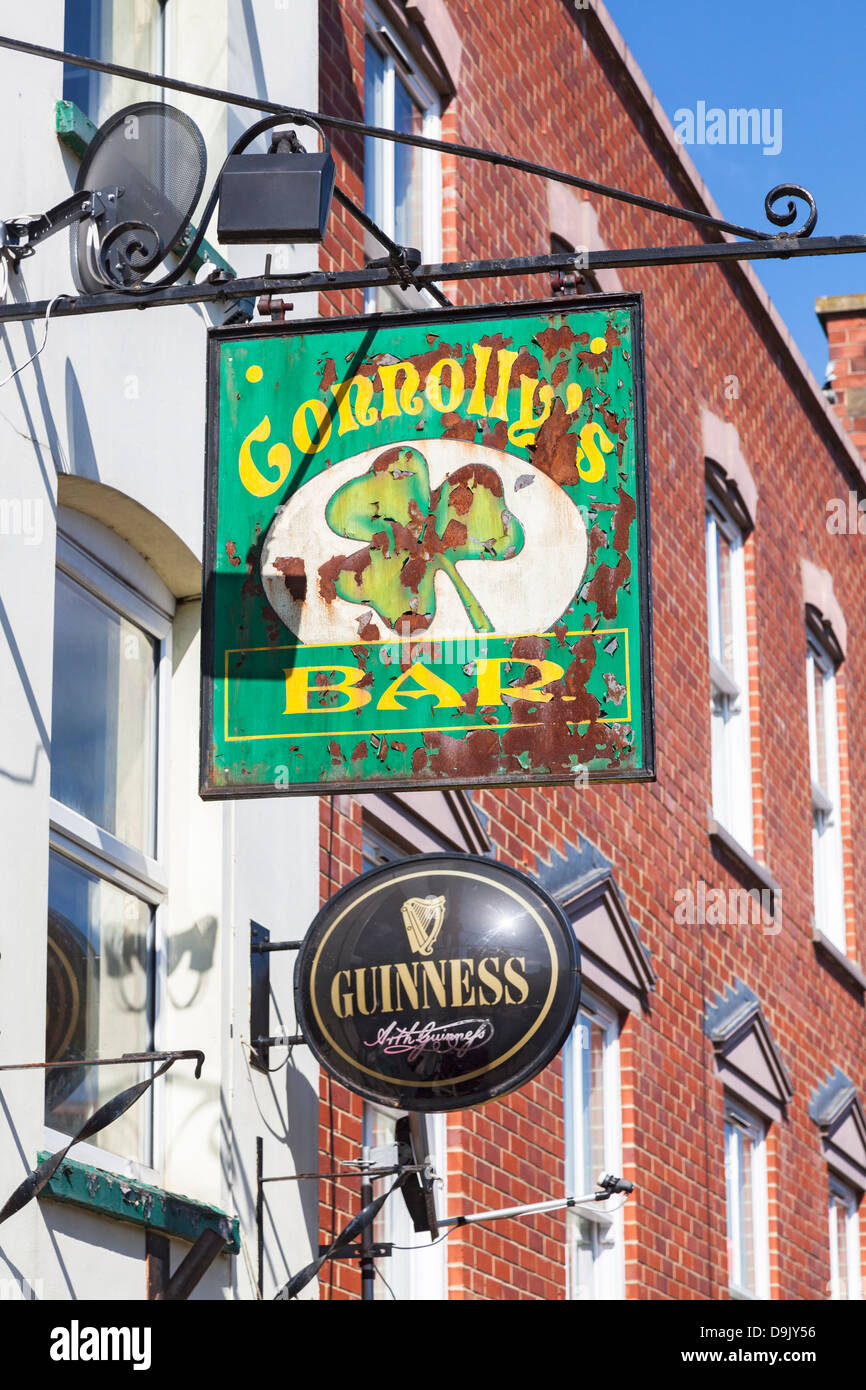
[[[520,521],[524,545],[509,560],[459,560],[457,570],[493,624],[495,632],[545,632],[556,623],[577,594],[587,567],[587,527],[567,492],[514,455],[488,449],[463,439],[399,441],[423,453],[434,492],[445,478],[468,464],[487,464],[499,474],[505,505]],[[335,598],[327,603],[318,591],[318,570],[335,555],[352,555],[361,543],[348,541],[325,521],[332,493],[367,473],[384,448],[366,449],[352,459],[325,468],[297,489],[279,507],[261,549],[261,581],[268,603],[279,620],[302,642],[357,642],[364,626],[361,614],[371,609]],[[527,478],[531,481],[527,484]],[[517,482],[521,486],[517,486]],[[274,562],[302,557],[307,578],[303,600],[289,594],[284,574]],[[435,577],[436,612],[424,639],[446,641],[477,637],[463,603],[446,574]],[[393,630],[375,612],[371,621],[381,635]],[[417,634],[421,637],[421,634]]]

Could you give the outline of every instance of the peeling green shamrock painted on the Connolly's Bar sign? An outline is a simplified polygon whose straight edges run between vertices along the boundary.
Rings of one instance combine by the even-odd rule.
[[[523,549],[523,527],[505,505],[502,478],[473,463],[449,474],[432,493],[427,461],[407,445],[385,450],[360,478],[338,488],[325,520],[349,541],[366,541],[320,570],[325,599],[339,595],[375,609],[389,627],[430,627],[435,577],[446,574],[477,632],[493,624],[457,573],[459,560],[510,560]]]

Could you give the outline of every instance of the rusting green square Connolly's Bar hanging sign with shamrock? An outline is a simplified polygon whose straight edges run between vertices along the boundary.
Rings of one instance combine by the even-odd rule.
[[[639,296],[209,353],[204,796],[655,777]]]

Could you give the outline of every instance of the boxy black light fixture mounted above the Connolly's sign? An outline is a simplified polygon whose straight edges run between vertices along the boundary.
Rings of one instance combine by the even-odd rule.
[[[267,154],[228,157],[217,232],[224,246],[324,240],[336,165],[324,131],[316,129],[322,142],[318,153],[304,150],[295,131],[275,131]]]

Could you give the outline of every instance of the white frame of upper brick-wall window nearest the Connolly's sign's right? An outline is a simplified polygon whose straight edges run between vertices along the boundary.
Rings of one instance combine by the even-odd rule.
[[[713,753],[713,817],[751,855],[753,847],[749,648],[745,546],[741,528],[717,493],[706,491],[706,595]],[[720,660],[717,537],[731,557],[733,651]]]

